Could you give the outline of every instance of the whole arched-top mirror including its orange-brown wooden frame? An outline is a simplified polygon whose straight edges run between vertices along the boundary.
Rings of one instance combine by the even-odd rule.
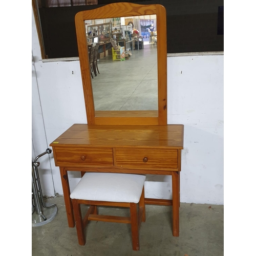
[[[88,124],[167,124],[164,7],[115,3],[75,23]]]

